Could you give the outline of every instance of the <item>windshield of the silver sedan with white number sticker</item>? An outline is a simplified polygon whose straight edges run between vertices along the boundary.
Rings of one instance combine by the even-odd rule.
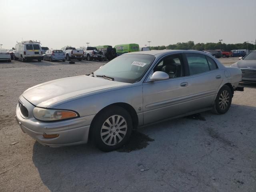
[[[141,80],[154,58],[146,54],[121,55],[96,70],[94,76],[105,75],[115,81],[135,83]]]

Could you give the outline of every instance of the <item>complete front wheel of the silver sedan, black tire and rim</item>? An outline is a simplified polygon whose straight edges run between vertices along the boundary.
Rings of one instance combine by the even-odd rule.
[[[124,108],[110,106],[97,114],[91,129],[97,148],[109,152],[128,142],[132,132],[132,118]]]

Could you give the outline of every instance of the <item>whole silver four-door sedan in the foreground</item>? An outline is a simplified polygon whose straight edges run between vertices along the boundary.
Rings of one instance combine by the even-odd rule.
[[[16,118],[45,146],[82,144],[90,137],[100,150],[111,151],[146,124],[207,110],[226,113],[234,91],[242,90],[241,79],[240,69],[203,52],[133,52],[88,76],[29,88],[19,97]]]

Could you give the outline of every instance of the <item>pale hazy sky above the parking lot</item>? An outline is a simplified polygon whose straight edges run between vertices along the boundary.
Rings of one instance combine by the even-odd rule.
[[[256,39],[256,0],[0,0],[0,44],[141,47]]]

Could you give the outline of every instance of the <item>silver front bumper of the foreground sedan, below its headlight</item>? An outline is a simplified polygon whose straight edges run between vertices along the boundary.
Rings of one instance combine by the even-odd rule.
[[[32,111],[35,106],[20,96],[20,101],[28,109],[28,118],[16,107],[16,120],[21,130],[44,146],[69,146],[87,143],[89,129],[95,115],[63,120],[58,122],[42,122],[34,118]],[[59,134],[57,138],[44,138],[44,134]]]

